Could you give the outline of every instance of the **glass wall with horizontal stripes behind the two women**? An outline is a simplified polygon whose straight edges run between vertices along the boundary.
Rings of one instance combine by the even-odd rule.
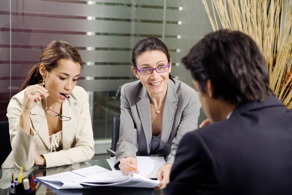
[[[211,30],[201,0],[0,0],[0,18],[0,120],[44,46],[64,40],[84,61],[77,84],[90,97],[95,139],[110,138],[120,88],[136,80],[131,49],[139,39],[164,40],[171,74],[191,85],[181,59]]]

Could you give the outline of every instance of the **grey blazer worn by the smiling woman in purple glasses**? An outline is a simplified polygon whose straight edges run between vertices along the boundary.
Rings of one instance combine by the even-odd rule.
[[[177,147],[187,132],[197,129],[201,103],[198,93],[180,80],[168,80],[164,102],[162,135],[157,154],[168,155],[173,164]],[[152,125],[150,100],[140,80],[121,89],[120,137],[116,148],[118,163],[127,156],[147,156],[151,150]]]

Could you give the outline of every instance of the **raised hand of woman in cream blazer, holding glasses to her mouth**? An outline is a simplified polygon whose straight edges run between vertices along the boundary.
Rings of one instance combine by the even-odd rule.
[[[37,105],[37,101],[41,101],[41,98],[47,98],[49,96],[48,90],[38,84],[28,86],[24,90],[24,98],[22,103],[22,113],[30,113],[31,110]]]

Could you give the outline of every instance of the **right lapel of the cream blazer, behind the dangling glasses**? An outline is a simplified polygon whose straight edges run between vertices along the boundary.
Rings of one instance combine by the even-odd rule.
[[[69,117],[71,112],[71,120],[62,121],[62,147],[63,150],[68,150],[71,148],[70,143],[73,142],[73,138],[75,133],[76,125],[78,123],[78,109],[76,106],[76,99],[73,95],[70,95],[70,104],[69,101],[66,100],[62,104],[62,115]]]

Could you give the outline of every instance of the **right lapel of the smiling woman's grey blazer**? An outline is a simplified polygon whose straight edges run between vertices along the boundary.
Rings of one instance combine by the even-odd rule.
[[[167,91],[166,91],[166,97],[165,97],[164,107],[163,107],[162,133],[161,133],[162,135],[161,135],[161,140],[160,140],[160,145],[158,147],[158,150],[162,149],[168,140],[168,137],[172,130],[172,124],[174,121],[176,110],[178,108],[177,104],[178,104],[178,97],[176,94],[175,84],[172,80],[169,79],[167,83]]]

